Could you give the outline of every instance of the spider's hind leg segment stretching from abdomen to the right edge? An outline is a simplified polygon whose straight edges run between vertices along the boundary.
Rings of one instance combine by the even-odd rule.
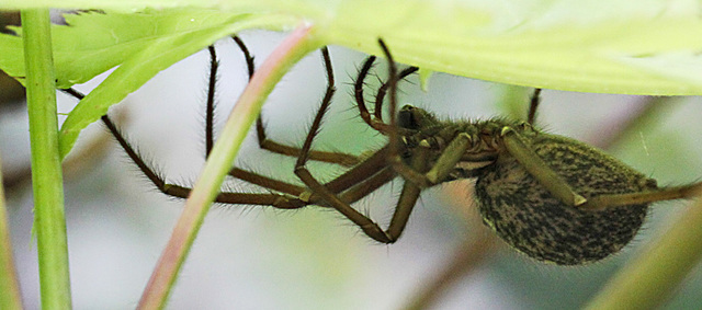
[[[649,204],[661,200],[692,198],[702,193],[702,182],[684,186],[660,187],[639,193],[611,194],[591,197],[580,208],[599,210],[611,207]]]

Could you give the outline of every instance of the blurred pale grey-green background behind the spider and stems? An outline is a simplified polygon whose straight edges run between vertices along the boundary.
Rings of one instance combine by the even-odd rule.
[[[247,32],[257,64],[283,35]],[[218,124],[246,84],[241,55],[230,41],[216,45]],[[390,47],[392,48],[392,47]],[[369,129],[354,110],[350,83],[365,55],[331,47],[338,92],[316,149],[360,153],[378,148],[384,138]],[[208,55],[201,51],[161,72],[111,113],[122,128],[171,182],[192,184],[204,162],[204,102]],[[584,64],[587,66],[587,64]],[[376,67],[383,77],[384,65]],[[102,77],[104,78],[104,76]],[[99,78],[100,79],[100,78]],[[98,82],[79,89],[89,91]],[[376,79],[372,79],[376,80]],[[313,54],[279,84],[263,110],[271,138],[301,146],[324,95],[319,54]],[[371,83],[371,88],[377,82]],[[435,73],[422,92],[417,76],[400,85],[400,103],[448,118],[523,117],[529,90]],[[371,91],[369,91],[372,93]],[[29,164],[26,112],[2,103],[0,153],[3,177],[22,180]],[[657,103],[643,118],[648,97],[568,93],[544,90],[540,126],[559,135],[607,147],[608,151],[661,185],[695,182],[702,175],[702,102],[677,97]],[[59,112],[75,102],[59,94]],[[68,244],[76,309],[134,308],[182,202],[157,193],[116,143],[95,139],[106,130],[93,124],[81,135],[66,174]],[[621,135],[620,135],[621,134]],[[106,149],[103,149],[106,148]],[[82,152],[81,152],[82,151]],[[75,156],[75,154],[73,154]],[[294,159],[258,149],[253,133],[238,164],[295,181]],[[340,173],[314,164],[324,180]],[[389,220],[401,182],[383,187],[356,206],[382,223]],[[228,188],[257,191],[238,182]],[[195,241],[169,302],[169,309],[401,309],[446,265],[454,249],[476,237],[488,238],[476,215],[471,182],[426,191],[403,238],[381,245],[359,233],[340,215],[318,207],[281,211],[272,208],[216,206]],[[8,187],[13,245],[29,309],[38,308],[36,249],[31,239],[32,193],[29,182]],[[496,253],[444,291],[432,309],[575,309],[580,308],[638,249],[675,225],[688,202],[656,204],[641,234],[623,253],[579,266],[545,265],[498,242]],[[694,272],[667,309],[701,309],[702,275]]]

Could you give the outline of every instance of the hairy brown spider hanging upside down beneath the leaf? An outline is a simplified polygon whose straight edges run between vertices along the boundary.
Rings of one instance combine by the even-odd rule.
[[[241,49],[253,74],[253,57],[240,38]],[[397,110],[397,83],[418,69],[401,71],[382,39],[378,45],[388,62],[388,78],[376,94],[370,112],[365,79],[376,61],[370,56],[361,65],[353,83],[354,99],[363,122],[387,137],[387,143],[369,156],[312,149],[321,120],[335,93],[335,77],[329,51],[321,48],[327,73],[324,100],[302,148],[268,138],[261,117],[256,131],[260,148],[296,157],[294,173],[304,186],[263,176],[239,168],[229,174],[265,187],[270,193],[223,192],[216,202],[231,205],[260,205],[296,209],[309,205],[333,208],[358,226],[367,237],[381,242],[397,241],[422,190],[456,180],[476,179],[475,203],[485,225],[517,251],[543,262],[576,265],[595,262],[619,252],[643,225],[652,203],[689,198],[702,183],[660,187],[656,181],[577,140],[546,134],[534,125],[540,89],[531,99],[525,122],[492,118],[477,122],[440,119],[421,108],[405,105]],[[214,143],[213,114],[217,56],[213,46],[206,112],[206,151]],[[82,94],[66,90],[78,100]],[[389,116],[384,119],[385,97]],[[102,122],[128,157],[163,194],[185,198],[190,188],[168,184],[145,163],[107,115]],[[327,183],[310,173],[309,160],[349,167]],[[351,204],[384,184],[404,180],[389,226],[358,211]]]

